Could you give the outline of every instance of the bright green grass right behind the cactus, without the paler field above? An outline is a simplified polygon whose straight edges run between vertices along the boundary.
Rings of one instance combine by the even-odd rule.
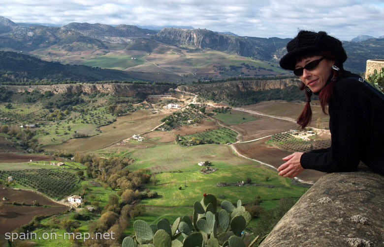
[[[232,203],[241,199],[243,204],[250,203],[256,195],[260,195],[266,210],[277,206],[278,200],[283,197],[300,197],[307,189],[291,185],[288,178],[277,175],[276,171],[262,165],[250,164],[240,166],[214,165],[219,169],[211,174],[202,174],[199,171],[160,173],[157,175],[158,184],[147,186],[151,191],[159,193],[158,198],[144,199],[142,205],[146,207],[146,213],[135,220],[145,220],[148,223],[156,223],[162,218],[173,222],[183,215],[191,216],[192,205],[200,201],[204,192],[214,194],[216,197],[224,195],[224,199]],[[265,180],[268,176],[270,179]],[[217,187],[220,182],[238,182],[252,179],[252,183],[265,186],[228,186]],[[187,187],[185,187],[187,185]],[[179,187],[182,190],[179,190]],[[268,187],[269,186],[269,187]],[[132,224],[128,226],[128,232],[132,232]]]

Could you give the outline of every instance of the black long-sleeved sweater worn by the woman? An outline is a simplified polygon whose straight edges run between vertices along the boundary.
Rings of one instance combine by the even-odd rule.
[[[384,101],[351,73],[336,82],[328,104],[331,147],[304,153],[305,169],[355,171],[359,162],[384,175]]]

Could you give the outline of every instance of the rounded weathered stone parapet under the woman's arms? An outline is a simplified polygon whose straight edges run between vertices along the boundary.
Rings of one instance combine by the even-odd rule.
[[[327,173],[260,247],[384,247],[384,176],[365,165]]]

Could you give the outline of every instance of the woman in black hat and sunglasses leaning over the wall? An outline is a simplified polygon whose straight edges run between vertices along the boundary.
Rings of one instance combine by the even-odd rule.
[[[311,122],[311,95],[319,95],[324,113],[328,107],[331,146],[283,158],[279,175],[293,178],[304,169],[355,171],[360,161],[384,175],[384,101],[343,69],[342,43],[325,32],[300,31],[287,51],[280,66],[293,70],[307,96],[297,123],[305,128]]]

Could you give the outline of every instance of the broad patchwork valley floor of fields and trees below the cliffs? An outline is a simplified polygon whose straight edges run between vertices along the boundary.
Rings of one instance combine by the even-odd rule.
[[[67,85],[62,86],[68,88]],[[268,211],[276,208],[281,198],[298,199],[307,190],[298,186],[297,182],[278,176],[276,172],[276,167],[282,164],[281,159],[300,147],[285,149],[284,145],[270,143],[276,134],[297,129],[294,119],[303,103],[269,101],[230,107],[225,102],[205,100],[184,92],[184,87],[168,91],[169,86],[165,85],[167,89],[164,90],[168,92],[164,93],[171,96],[167,98],[139,98],[137,92],[141,90],[140,87],[134,91],[124,84],[121,86],[125,88],[124,94],[115,89],[100,92],[95,90],[97,85],[92,90],[82,85],[81,90],[80,87],[72,87],[69,93],[64,89],[49,95],[44,93],[45,88],[39,89],[44,86],[30,86],[30,92],[22,86],[18,86],[21,88],[19,92],[15,90],[16,87],[11,89],[14,91],[12,103],[0,104],[3,117],[0,126],[0,174],[3,174],[3,184],[10,188],[33,189],[29,185],[21,185],[20,177],[15,175],[12,183],[6,183],[11,171],[18,170],[25,170],[20,173],[23,174],[30,169],[49,168],[74,174],[78,180],[72,194],[88,198],[80,215],[89,220],[78,220],[79,225],[70,224],[66,227],[70,231],[91,232],[95,227],[96,230],[102,227],[92,221],[102,221],[100,214],[102,217],[109,211],[111,198],[120,201],[114,207],[121,210],[126,208],[123,207],[125,203],[122,200],[126,198],[123,194],[132,187],[126,187],[122,181],[111,182],[113,174],[128,170],[132,174],[148,174],[150,180],[142,180],[139,187],[133,187],[137,189],[132,190],[137,190],[136,193],[156,192],[158,196],[132,197],[135,198],[134,202],[131,199],[132,204],[126,206],[129,205],[132,208],[130,210],[137,208],[136,211],[141,213],[128,214],[130,218],[126,220],[130,224],[123,227],[126,230],[119,232],[120,236],[132,233],[133,219],[157,222],[161,218],[175,220],[180,213],[190,215],[191,205],[204,192],[223,195],[229,201],[241,199],[248,207],[253,205],[257,195],[260,197],[257,205]],[[115,88],[107,84],[98,88],[108,87]],[[6,88],[10,90],[9,86]],[[25,99],[29,97],[32,102],[26,104]],[[56,108],[59,102],[62,103],[60,109]],[[64,102],[68,102],[68,105]],[[170,108],[172,104],[174,107]],[[322,115],[316,102],[313,110],[315,116],[321,118],[319,122],[313,122],[313,130],[319,124],[326,126],[327,118]],[[38,126],[29,126],[33,123]],[[21,125],[24,125],[23,128]],[[139,135],[141,139],[133,138],[134,135]],[[312,138],[310,142],[316,143],[318,138],[330,137],[320,135]],[[291,142],[290,139],[286,141],[287,144]],[[211,163],[209,167],[217,170],[209,174],[201,173],[202,167],[197,164],[206,161]],[[46,162],[63,162],[65,165],[64,168],[44,165]],[[308,170],[299,179],[313,183],[321,175],[320,172]],[[118,177],[113,177],[113,180],[120,181],[116,180]],[[218,183],[238,181],[252,182],[243,187],[216,186]],[[8,208],[12,204],[10,200],[3,201],[2,205]],[[13,206],[17,210],[22,207],[18,203],[16,201]],[[96,211],[88,211],[85,209],[87,206],[96,208]],[[2,212],[9,214],[5,213],[8,209]],[[45,220],[39,220],[38,227],[28,229],[41,234],[41,229],[52,225],[60,233],[65,229],[64,222],[77,218],[77,214],[76,211],[70,211],[48,216]],[[29,219],[22,215],[18,217],[24,219],[20,222]],[[256,217],[252,221],[249,231],[256,231],[258,219]],[[7,232],[13,229],[9,228]],[[36,244],[50,246],[55,243],[37,241]],[[64,242],[64,246],[67,245],[69,242]]]

